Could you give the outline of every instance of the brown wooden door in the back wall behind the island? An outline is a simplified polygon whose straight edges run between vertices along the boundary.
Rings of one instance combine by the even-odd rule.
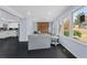
[[[41,31],[41,33],[48,33],[48,22],[37,22],[37,31]]]

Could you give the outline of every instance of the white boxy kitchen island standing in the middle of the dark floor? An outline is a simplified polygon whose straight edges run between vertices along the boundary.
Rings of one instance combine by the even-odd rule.
[[[29,51],[50,48],[51,47],[51,35],[50,34],[33,34],[29,35]]]

